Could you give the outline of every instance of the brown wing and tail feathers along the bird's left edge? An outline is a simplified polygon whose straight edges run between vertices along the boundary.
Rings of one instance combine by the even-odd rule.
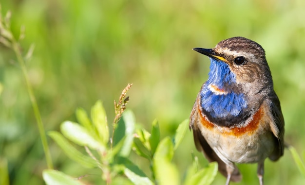
[[[218,155],[212,150],[204,136],[201,134],[201,131],[197,127],[197,124],[200,124],[199,121],[200,119],[198,118],[198,109],[197,106],[200,106],[200,95],[198,94],[196,102],[193,106],[193,109],[191,111],[191,117],[190,117],[190,129],[193,131],[193,136],[194,136],[194,142],[196,149],[198,151],[202,151],[205,157],[209,160],[209,162],[214,162],[216,161],[218,163],[218,171],[224,175],[225,177],[228,176],[227,173],[227,165],[224,163]],[[238,168],[234,166],[234,171],[231,174],[231,181],[233,182],[239,182],[242,179],[242,175],[240,174]]]

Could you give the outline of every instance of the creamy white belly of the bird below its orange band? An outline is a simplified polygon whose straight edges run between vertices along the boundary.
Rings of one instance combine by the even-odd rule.
[[[227,164],[264,161],[274,149],[273,136],[268,129],[259,128],[255,133],[239,136],[201,131],[210,147]]]

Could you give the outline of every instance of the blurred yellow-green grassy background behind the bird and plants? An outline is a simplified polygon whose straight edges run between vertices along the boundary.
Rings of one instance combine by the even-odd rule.
[[[286,141],[304,154],[304,0],[2,0],[1,5],[3,14],[12,11],[16,36],[25,26],[22,47],[36,45],[27,68],[47,131],[76,120],[76,107],[89,111],[99,99],[111,122],[114,99],[133,83],[128,108],[137,122],[150,130],[156,118],[162,137],[173,135],[189,118],[209,72],[208,57],[191,49],[244,36],[266,50]],[[46,162],[36,120],[21,69],[5,47],[0,48],[0,110],[0,158],[8,161],[11,184],[44,184]],[[101,183],[99,169],[77,165],[50,138],[49,145],[56,169],[74,177],[93,174],[84,181]],[[187,132],[174,156],[181,177],[191,165],[191,151],[202,166],[207,164]],[[131,157],[148,171],[145,159]],[[265,166],[267,185],[305,184],[288,151]],[[239,167],[240,184],[258,184],[256,165]],[[225,184],[219,174],[213,185],[218,184]]]

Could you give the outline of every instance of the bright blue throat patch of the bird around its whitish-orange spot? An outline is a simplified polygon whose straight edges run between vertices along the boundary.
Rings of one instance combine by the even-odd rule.
[[[247,107],[244,94],[233,92],[230,85],[236,83],[235,75],[230,71],[229,65],[222,61],[210,58],[209,79],[200,92],[201,107],[212,118],[238,117]],[[213,85],[226,93],[215,93],[209,85]]]

